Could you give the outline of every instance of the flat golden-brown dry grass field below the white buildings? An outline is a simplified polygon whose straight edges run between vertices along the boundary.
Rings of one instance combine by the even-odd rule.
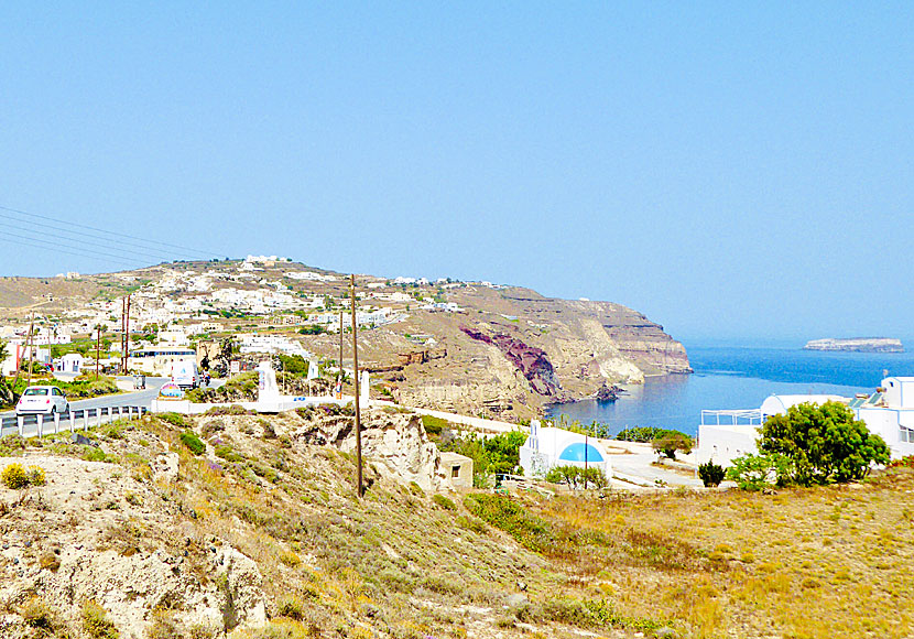
[[[902,638],[914,627],[912,492],[914,472],[901,469],[775,496],[565,498],[527,509],[583,540],[563,562],[569,571],[628,614],[676,620],[687,636]]]

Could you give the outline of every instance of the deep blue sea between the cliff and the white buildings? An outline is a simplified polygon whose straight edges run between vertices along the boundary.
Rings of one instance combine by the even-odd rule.
[[[686,346],[690,375],[649,377],[623,386],[616,402],[584,400],[552,407],[609,433],[632,426],[697,435],[703,410],[758,409],[771,394],[871,393],[886,376],[914,376],[914,353],[824,353],[801,347]]]

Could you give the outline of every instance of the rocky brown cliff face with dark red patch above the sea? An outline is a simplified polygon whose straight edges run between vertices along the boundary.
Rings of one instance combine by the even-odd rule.
[[[596,397],[603,385],[692,371],[682,344],[619,304],[483,286],[456,289],[448,300],[465,312],[413,313],[360,343],[404,404],[519,420],[548,403]],[[443,357],[406,356],[412,349],[398,334],[411,333],[434,336]],[[395,362],[391,350],[401,354]]]

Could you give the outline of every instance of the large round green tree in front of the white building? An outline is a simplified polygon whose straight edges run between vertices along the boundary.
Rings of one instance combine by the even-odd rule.
[[[802,403],[772,415],[762,426],[759,450],[793,463],[791,479],[801,486],[862,479],[873,464],[888,464],[889,446],[846,405]]]

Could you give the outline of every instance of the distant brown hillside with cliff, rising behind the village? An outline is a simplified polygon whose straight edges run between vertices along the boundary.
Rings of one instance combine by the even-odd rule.
[[[115,328],[128,292],[134,328],[171,317],[217,324],[209,338],[285,334],[328,360],[339,357],[338,311],[349,323],[348,278],[272,260],[181,262],[77,280],[6,278],[0,310],[21,323],[37,308],[48,325],[81,313],[83,331],[94,323]],[[519,421],[603,385],[690,371],[682,344],[662,326],[611,302],[371,275],[358,277],[357,296],[360,313],[378,316],[361,326],[360,364],[374,373],[376,392],[410,405]],[[302,335],[303,326],[323,334]],[[348,344],[344,357],[351,357]]]

